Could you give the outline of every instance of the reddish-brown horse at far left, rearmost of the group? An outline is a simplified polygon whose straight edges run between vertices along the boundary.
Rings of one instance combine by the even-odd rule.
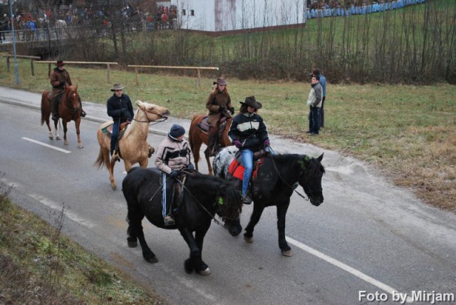
[[[48,98],[49,91],[44,91],[41,94],[41,125],[46,121],[49,130],[49,139],[53,140],[51,125],[49,125],[49,116],[51,115],[51,100]],[[78,135],[78,148],[83,148],[81,143],[81,135],[79,135],[79,125],[81,124],[81,105],[79,104],[78,85],[66,86],[63,100],[58,104],[58,117],[62,119],[63,125],[63,144],[68,145],[66,140],[66,123],[74,120],[76,126],[76,135]],[[58,120],[54,120],[54,130],[56,133],[56,140],[60,140],[57,129]]]

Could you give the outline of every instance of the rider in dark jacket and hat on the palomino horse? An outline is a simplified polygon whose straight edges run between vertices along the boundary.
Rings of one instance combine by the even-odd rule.
[[[120,160],[118,154],[114,153],[115,145],[118,141],[120,124],[126,122],[127,120],[133,120],[134,116],[133,105],[130,97],[123,93],[123,88],[125,87],[123,87],[120,83],[116,83],[111,89],[111,91],[114,92],[113,96],[111,96],[106,102],[108,115],[113,118],[114,121],[110,154],[115,160]]]

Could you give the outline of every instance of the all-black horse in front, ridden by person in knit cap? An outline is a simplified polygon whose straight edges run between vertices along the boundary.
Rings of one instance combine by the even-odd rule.
[[[142,232],[142,219],[147,219],[162,229],[178,229],[190,248],[190,257],[185,260],[185,272],[193,271],[209,275],[210,269],[202,261],[204,236],[214,214],[223,219],[237,219],[242,209],[242,197],[230,182],[219,177],[191,172],[185,177],[182,192],[175,195],[180,202],[174,212],[175,225],[165,227],[162,217],[162,173],[156,168],[133,167],[122,183],[123,195],[128,204],[128,246],[136,247],[139,239],[142,257],[147,262],[158,262],[154,252],[147,246]],[[193,235],[195,232],[195,236]]]

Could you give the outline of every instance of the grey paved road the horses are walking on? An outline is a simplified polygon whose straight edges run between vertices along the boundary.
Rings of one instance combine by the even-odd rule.
[[[255,229],[254,244],[212,224],[203,253],[212,269],[207,277],[185,274],[188,249],[177,231],[144,222],[159,259],[147,264],[140,248],[127,247],[122,192],[110,190],[107,171],[92,167],[98,153],[95,130],[108,120],[105,107],[84,103],[84,148],[78,149],[72,124],[70,145],[48,140],[39,125],[39,100],[36,93],[0,87],[0,172],[1,180],[14,185],[12,199],[51,223],[64,203],[66,234],[171,304],[376,304],[370,301],[375,296],[386,299],[382,304],[398,304],[395,291],[408,294],[408,301],[414,291],[456,294],[454,214],[424,205],[362,162],[277,137],[271,143],[279,153],[325,153],[323,205],[291,199],[286,235],[294,257],[281,256],[275,209],[269,208]],[[150,143],[156,147],[176,122],[190,125],[176,118],[154,125]],[[121,182],[125,174],[119,164],[115,177]],[[244,227],[251,212],[252,206],[244,207]]]

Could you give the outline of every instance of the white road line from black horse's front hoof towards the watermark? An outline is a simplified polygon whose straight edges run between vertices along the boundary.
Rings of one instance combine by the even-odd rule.
[[[337,259],[328,257],[328,255],[323,254],[314,248],[306,246],[302,242],[298,242],[297,240],[294,240],[288,236],[286,237],[286,241],[289,242],[290,244],[294,244],[296,247],[299,247],[300,249],[302,249],[306,252],[309,252],[310,254],[315,255],[316,257],[318,257],[320,259],[323,259],[323,261],[326,261],[329,264],[333,264],[334,266],[339,267],[339,268],[345,270],[346,272],[353,274],[354,276],[357,276],[358,278],[362,279],[363,281],[367,281],[369,284],[372,284],[373,286],[377,286],[378,288],[382,289],[383,291],[388,292],[389,294],[398,293],[398,290],[394,289],[393,287],[388,286],[387,284],[383,284],[381,281],[377,281],[376,279],[373,279],[371,276],[363,274],[363,272],[360,272],[360,271],[354,269],[353,267],[343,264],[343,262],[339,262]],[[413,298],[407,297],[407,302],[412,303]]]

